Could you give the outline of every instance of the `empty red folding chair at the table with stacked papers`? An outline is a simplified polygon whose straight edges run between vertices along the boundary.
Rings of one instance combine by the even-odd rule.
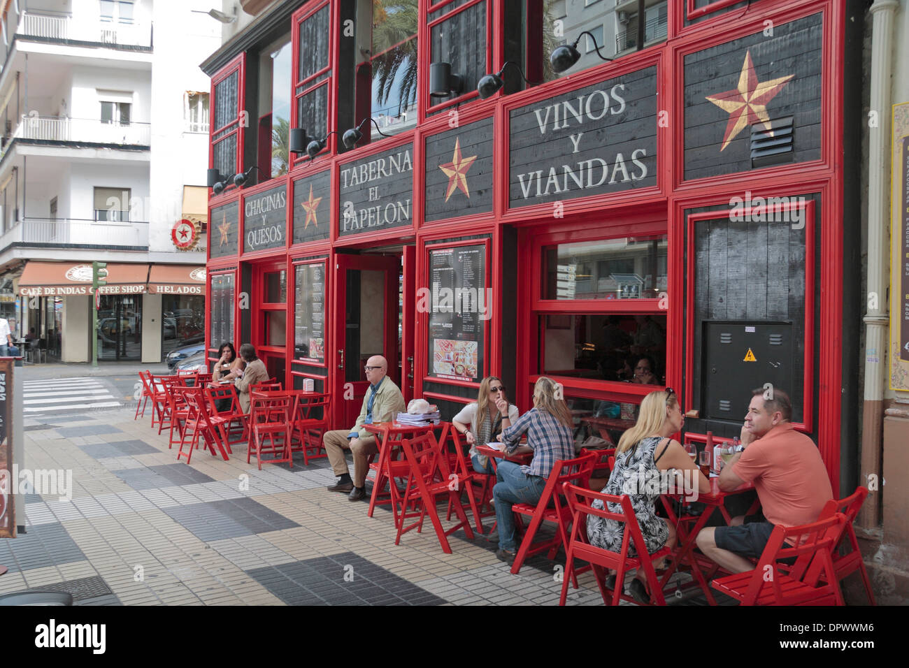
[[[464,487],[469,489],[470,475],[466,478],[460,474],[454,473],[448,466],[448,457],[442,446],[435,440],[432,433],[423,434],[415,439],[404,439],[402,448],[405,453],[405,461],[408,465],[407,484],[404,495],[401,499],[401,514],[397,526],[397,536],[395,536],[395,545],[401,543],[401,534],[407,533],[416,528],[416,533],[423,530],[423,521],[428,514],[430,521],[435,528],[435,535],[442,545],[442,551],[451,554],[452,549],[448,544],[448,536],[463,528],[467,538],[473,540],[474,532],[470,528],[470,520],[464,513],[464,506],[461,504],[461,493]],[[394,482],[392,484],[394,487]],[[446,495],[449,503],[454,507],[454,513],[457,514],[459,523],[445,531],[442,523],[439,521],[439,514],[436,512],[436,498]],[[419,503],[415,503],[415,502]],[[407,512],[407,508],[415,506],[415,511]],[[405,520],[408,518],[419,517],[415,523],[405,526]]]

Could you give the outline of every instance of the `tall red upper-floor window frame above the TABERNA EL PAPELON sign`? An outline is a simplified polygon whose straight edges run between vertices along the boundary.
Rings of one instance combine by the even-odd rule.
[[[316,88],[320,86],[326,86],[326,109],[325,109],[325,129],[328,133],[328,139],[325,142],[325,148],[319,153],[323,155],[325,153],[329,155],[335,154],[337,148],[337,134],[332,134],[332,130],[335,129],[335,86],[332,85],[335,80],[335,76],[332,76],[331,73],[337,73],[337,49],[338,49],[338,35],[335,26],[337,25],[337,12],[338,5],[329,7],[328,10],[328,65],[321,68],[320,70],[314,72],[312,75],[306,76],[303,79],[299,79],[300,73],[300,24],[306,21],[309,18],[312,18],[317,12],[324,9],[328,6],[329,0],[324,0],[323,2],[316,3],[315,5],[306,4],[297,9],[293,15],[293,27],[291,28],[291,48],[293,49],[292,57],[292,105],[291,109],[291,120],[290,127],[292,130],[296,129],[299,122],[297,105],[299,100],[304,95],[308,95],[315,91]],[[327,74],[327,76],[325,76]],[[322,80],[320,80],[321,77]],[[302,89],[301,89],[302,88]],[[312,128],[304,128],[307,132],[311,131]],[[321,140],[324,137],[313,137],[308,136],[308,139],[318,139]],[[308,161],[309,156],[306,154],[290,155],[290,165],[288,165],[288,172],[294,169],[296,166],[301,163]]]

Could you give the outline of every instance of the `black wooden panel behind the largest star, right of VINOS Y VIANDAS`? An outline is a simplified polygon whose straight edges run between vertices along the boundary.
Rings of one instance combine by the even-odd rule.
[[[737,132],[727,132],[730,118],[737,113],[707,99],[737,90],[748,55],[759,83],[792,76],[764,100],[765,113],[771,119],[794,117],[795,162],[820,157],[822,15],[774,25],[773,31],[773,35],[759,32],[685,56],[686,179],[751,169],[751,126],[760,124],[758,117],[745,115],[746,122]]]

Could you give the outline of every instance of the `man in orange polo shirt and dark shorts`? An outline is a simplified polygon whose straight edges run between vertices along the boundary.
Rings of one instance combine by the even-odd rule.
[[[754,568],[745,557],[758,558],[775,524],[797,526],[817,520],[824,503],[834,498],[824,461],[808,436],[790,422],[789,395],[773,388],[754,390],[742,427],[745,449],[723,468],[717,483],[730,492],[754,483],[763,516],[734,517],[730,526],[708,527],[697,534],[697,546],[731,573]]]

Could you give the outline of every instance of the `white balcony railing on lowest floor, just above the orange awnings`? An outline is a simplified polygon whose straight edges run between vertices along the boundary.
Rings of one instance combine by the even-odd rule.
[[[10,244],[148,247],[148,223],[100,223],[78,218],[25,218],[0,236],[0,251]]]

